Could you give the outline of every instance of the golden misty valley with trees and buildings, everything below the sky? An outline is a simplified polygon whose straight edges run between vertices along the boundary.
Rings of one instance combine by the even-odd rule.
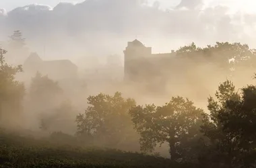
[[[256,167],[254,48],[135,39],[95,62],[1,42],[0,167]]]

